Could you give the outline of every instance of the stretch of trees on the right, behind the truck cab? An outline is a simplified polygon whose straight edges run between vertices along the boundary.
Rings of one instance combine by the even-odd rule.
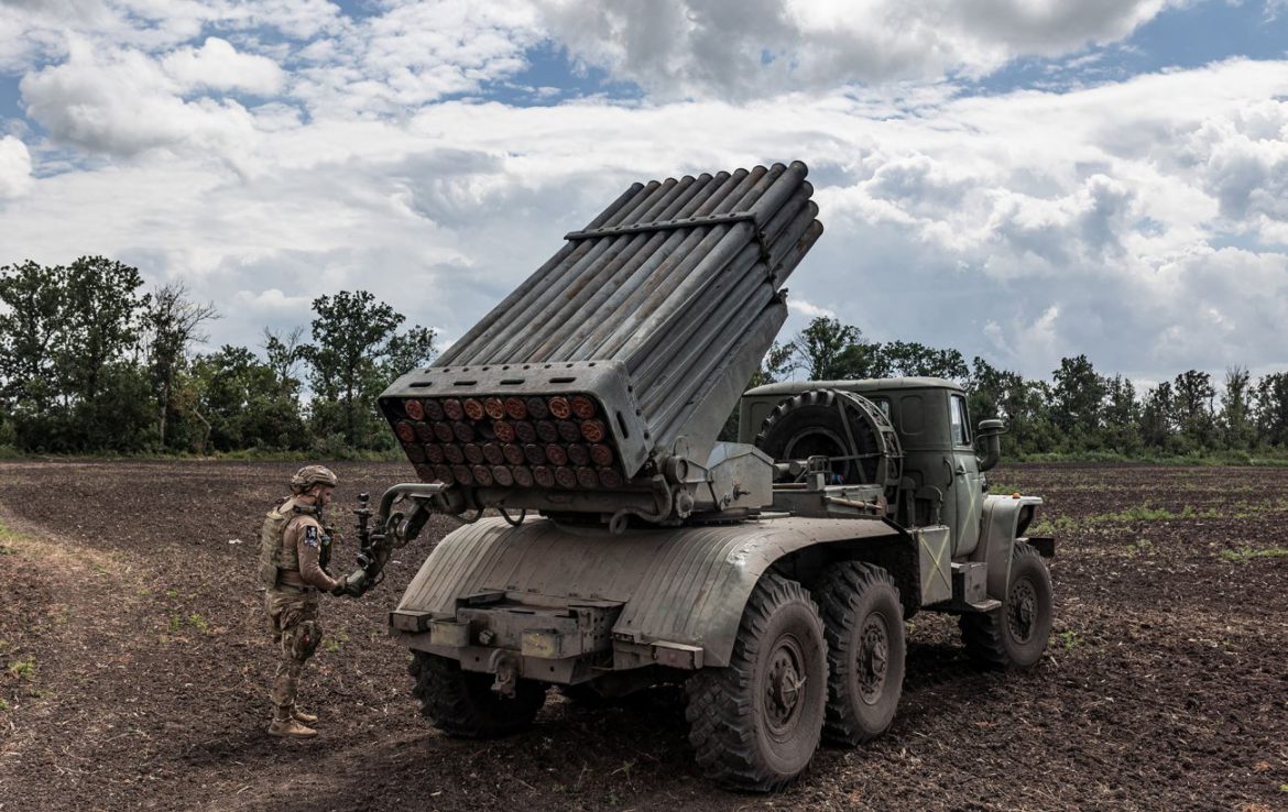
[[[1288,448],[1288,372],[1253,381],[1231,365],[1224,380],[1188,369],[1155,386],[1101,374],[1086,355],[1060,359],[1048,381],[1025,380],[983,358],[916,342],[866,341],[858,327],[820,317],[775,344],[755,383],[930,376],[961,383],[975,421],[999,417],[1009,458],[1033,454],[1172,457]],[[726,427],[728,431],[728,427]]]

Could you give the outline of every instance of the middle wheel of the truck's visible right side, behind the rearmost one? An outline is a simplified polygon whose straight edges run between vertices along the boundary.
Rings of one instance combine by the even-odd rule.
[[[903,607],[890,574],[848,561],[818,592],[827,636],[827,721],[823,736],[855,746],[890,727],[903,692]]]

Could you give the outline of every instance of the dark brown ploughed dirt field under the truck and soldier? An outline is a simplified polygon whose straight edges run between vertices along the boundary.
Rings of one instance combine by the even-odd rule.
[[[455,526],[440,517],[374,593],[323,596],[301,685],[321,735],[269,737],[252,570],[295,467],[0,463],[0,812],[1288,809],[1288,470],[992,472],[1047,497],[1057,537],[1041,665],[976,670],[952,618],[918,615],[893,730],[748,797],[703,781],[674,690],[607,708],[551,692],[500,741],[431,730],[385,613]],[[335,467],[341,508],[411,474]]]

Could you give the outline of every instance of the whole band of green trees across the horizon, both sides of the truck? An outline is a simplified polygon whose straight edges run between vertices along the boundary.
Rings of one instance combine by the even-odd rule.
[[[182,284],[146,291],[138,269],[100,256],[0,266],[0,449],[17,453],[383,452],[376,396],[437,354],[433,329],[366,291],[313,300],[313,319],[264,329],[258,347],[197,351],[219,318]],[[1144,389],[1064,358],[1027,380],[983,358],[875,342],[817,318],[775,344],[751,386],[930,376],[962,383],[975,421],[1001,417],[1010,458],[1265,453],[1288,447],[1288,372],[1222,381],[1189,369]],[[725,436],[737,434],[737,413]]]

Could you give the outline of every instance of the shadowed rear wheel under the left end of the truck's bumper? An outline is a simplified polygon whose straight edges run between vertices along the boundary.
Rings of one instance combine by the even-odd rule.
[[[492,690],[492,676],[461,669],[456,660],[413,652],[412,694],[420,700],[420,713],[434,727],[462,739],[493,739],[518,732],[532,724],[546,703],[546,686],[519,679],[514,697]]]

